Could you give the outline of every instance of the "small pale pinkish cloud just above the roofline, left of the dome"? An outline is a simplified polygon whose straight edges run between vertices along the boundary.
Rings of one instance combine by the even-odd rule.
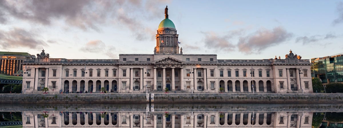
[[[116,48],[112,45],[106,46],[104,42],[101,40],[94,40],[87,42],[84,46],[80,48],[80,51],[85,53],[103,53],[107,55],[108,57],[114,57],[116,56],[113,54],[113,52],[116,50]]]

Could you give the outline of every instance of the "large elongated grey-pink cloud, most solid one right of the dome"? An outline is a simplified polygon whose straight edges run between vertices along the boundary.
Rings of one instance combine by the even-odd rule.
[[[238,50],[245,54],[260,53],[265,48],[275,46],[293,37],[292,33],[287,32],[282,27],[273,30],[260,29],[246,37],[240,37]]]

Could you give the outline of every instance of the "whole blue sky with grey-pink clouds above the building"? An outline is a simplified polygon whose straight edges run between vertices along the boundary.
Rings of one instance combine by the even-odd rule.
[[[343,52],[339,0],[0,0],[0,51],[50,58],[153,54],[165,18],[183,54],[302,59]]]

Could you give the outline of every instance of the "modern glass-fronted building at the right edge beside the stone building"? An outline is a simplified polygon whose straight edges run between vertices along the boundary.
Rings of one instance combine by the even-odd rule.
[[[343,82],[343,53],[311,59],[311,75],[323,84]]]

